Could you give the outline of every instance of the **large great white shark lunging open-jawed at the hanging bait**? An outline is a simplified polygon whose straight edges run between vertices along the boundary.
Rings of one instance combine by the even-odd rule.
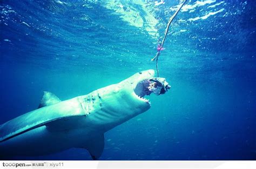
[[[0,125],[0,157],[43,156],[72,147],[85,148],[92,159],[104,149],[104,133],[150,109],[142,71],[84,96],[61,101],[44,92],[38,109]]]

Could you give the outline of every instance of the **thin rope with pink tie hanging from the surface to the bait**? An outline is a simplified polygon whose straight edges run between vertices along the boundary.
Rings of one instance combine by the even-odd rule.
[[[157,59],[157,60],[156,60],[157,77],[159,77],[158,57],[159,57],[159,55],[160,55],[160,51],[161,51],[161,49],[162,49],[163,46],[164,46],[164,41],[165,41],[166,35],[167,35],[168,31],[169,31],[169,27],[170,27],[170,25],[171,25],[171,23],[172,23],[174,17],[176,17],[176,15],[178,14],[178,12],[179,12],[180,9],[182,8],[182,6],[185,4],[185,2],[186,2],[186,0],[183,1],[183,3],[179,6],[178,10],[177,10],[177,11],[173,14],[173,16],[169,19],[169,22],[168,22],[168,24],[167,24],[167,28],[166,28],[166,30],[165,30],[164,39],[163,39],[163,41],[162,41],[162,43],[161,43],[160,49],[157,51],[157,55],[156,55],[154,58],[151,59],[151,61]]]

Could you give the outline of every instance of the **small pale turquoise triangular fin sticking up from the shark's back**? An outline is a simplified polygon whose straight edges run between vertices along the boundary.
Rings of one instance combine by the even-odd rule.
[[[62,102],[55,94],[52,94],[51,92],[44,91],[43,97],[40,101],[40,104],[38,106],[38,109],[44,106],[49,106],[52,104],[56,104]]]

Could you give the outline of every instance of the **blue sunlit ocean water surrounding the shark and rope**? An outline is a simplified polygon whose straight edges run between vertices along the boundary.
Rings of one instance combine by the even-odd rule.
[[[155,69],[150,59],[179,3],[1,1],[0,124],[37,109],[43,91],[65,100]],[[100,160],[255,160],[255,6],[187,1],[159,57],[171,90],[105,133]],[[73,148],[14,159],[91,157]]]

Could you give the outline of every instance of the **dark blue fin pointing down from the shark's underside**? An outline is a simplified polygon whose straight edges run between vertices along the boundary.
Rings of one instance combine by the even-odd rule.
[[[82,148],[89,151],[93,160],[97,160],[102,155],[104,144],[104,134],[102,134],[90,141],[86,141],[85,146],[82,146]]]

